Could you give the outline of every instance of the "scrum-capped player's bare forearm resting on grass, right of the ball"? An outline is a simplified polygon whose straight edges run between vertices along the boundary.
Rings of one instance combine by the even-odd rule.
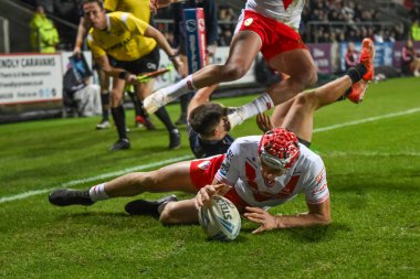
[[[328,225],[330,223],[329,197],[319,204],[307,204],[309,212],[297,215],[271,215],[259,207],[246,207],[244,216],[260,227],[253,234],[275,228],[308,227],[315,225]]]

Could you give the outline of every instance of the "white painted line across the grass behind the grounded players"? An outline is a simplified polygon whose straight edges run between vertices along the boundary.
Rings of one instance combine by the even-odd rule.
[[[420,111],[420,108],[412,108],[412,109],[408,109],[408,110],[400,111],[400,112],[393,112],[393,114],[388,114],[388,115],[382,115],[382,116],[377,116],[377,117],[369,117],[369,118],[365,118],[365,119],[361,119],[361,120],[355,120],[355,121],[349,121],[349,122],[345,122],[345,124],[339,124],[339,125],[333,125],[333,126],[327,126],[327,127],[323,127],[323,128],[317,128],[317,129],[314,129],[314,132],[328,131],[328,130],[333,130],[333,129],[339,129],[339,128],[343,128],[343,127],[348,127],[348,126],[355,126],[355,125],[359,125],[359,124],[366,124],[366,122],[377,121],[377,120],[381,120],[381,119],[386,119],[386,118],[392,118],[392,117],[399,117],[399,116],[405,116],[405,115],[411,115],[411,114],[416,114],[416,112],[419,112],[419,111]],[[417,153],[410,153],[410,155],[418,155],[418,154]],[[74,186],[74,185],[77,185],[77,184],[87,183],[87,182],[91,182],[91,181],[97,181],[97,180],[104,180],[104,179],[108,179],[108,178],[114,178],[114,176],[118,176],[118,175],[122,175],[122,174],[127,173],[127,172],[141,171],[141,170],[145,170],[145,169],[155,168],[155,167],[159,167],[159,165],[165,165],[165,164],[169,164],[169,163],[175,163],[175,162],[179,162],[179,161],[188,160],[188,159],[192,159],[192,155],[171,158],[171,159],[164,160],[164,161],[160,161],[160,162],[138,165],[138,167],[125,169],[125,170],[117,171],[117,172],[104,173],[104,174],[101,174],[101,175],[96,175],[96,176],[92,176],[92,178],[87,178],[87,179],[82,179],[82,180],[73,180],[73,181],[69,181],[66,183],[63,183],[60,186],[61,187],[70,187],[70,186]],[[54,189],[56,189],[56,187],[35,190],[35,191],[28,191],[28,192],[24,192],[24,193],[21,193],[21,194],[17,194],[17,195],[0,197],[0,204],[6,203],[6,202],[12,202],[12,201],[17,201],[17,200],[27,198],[27,197],[30,197],[30,196],[33,196],[33,195],[45,194],[48,192],[51,192]]]

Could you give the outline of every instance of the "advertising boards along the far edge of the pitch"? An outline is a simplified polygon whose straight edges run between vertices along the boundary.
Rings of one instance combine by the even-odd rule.
[[[401,50],[406,42],[376,43],[376,66],[400,69]],[[307,44],[321,75],[332,75],[344,71],[344,57],[347,43]],[[355,43],[356,50],[360,43]],[[414,43],[420,53],[420,42]],[[56,54],[21,53],[0,54],[0,124],[61,115],[63,109],[63,76],[69,67],[71,52]],[[84,52],[92,68],[92,54]],[[229,47],[218,47],[213,64],[223,64],[229,55]],[[160,67],[171,66],[167,55],[161,52]],[[254,66],[240,79],[224,83],[221,90],[232,88],[253,88],[255,82]],[[156,78],[154,89],[158,89],[179,79],[175,71]],[[94,78],[97,84],[97,78]]]

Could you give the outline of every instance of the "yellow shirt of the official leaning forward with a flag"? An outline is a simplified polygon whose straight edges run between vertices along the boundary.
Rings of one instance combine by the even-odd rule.
[[[91,29],[87,36],[95,58],[108,54],[118,61],[135,61],[149,54],[157,45],[154,39],[144,36],[149,24],[130,13],[107,13],[106,23],[106,30]]]

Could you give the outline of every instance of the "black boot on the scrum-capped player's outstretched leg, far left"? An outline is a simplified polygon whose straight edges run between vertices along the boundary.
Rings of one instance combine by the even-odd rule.
[[[71,189],[55,190],[49,195],[51,204],[56,206],[67,205],[92,205],[95,202],[91,200],[88,191],[77,191]]]

